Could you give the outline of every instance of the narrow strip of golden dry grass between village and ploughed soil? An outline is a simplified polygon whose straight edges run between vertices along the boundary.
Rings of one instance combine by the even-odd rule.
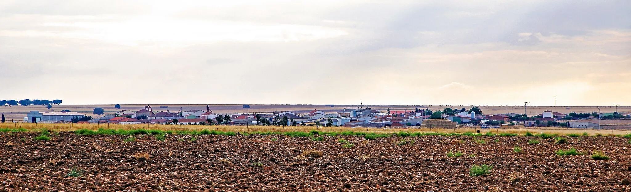
[[[345,128],[345,127],[312,127],[312,126],[298,126],[298,127],[274,127],[274,126],[232,126],[232,125],[148,125],[148,124],[75,124],[75,123],[0,123],[0,128],[25,128],[27,130],[53,130],[53,131],[74,131],[79,129],[98,130],[99,128],[110,129],[156,129],[156,130],[218,130],[223,132],[309,132],[311,130],[321,131],[333,131],[333,132],[374,132],[374,133],[396,133],[396,132],[439,132],[439,133],[465,133],[476,132],[480,130],[481,133],[486,132],[498,132],[498,133],[583,133],[587,132],[590,135],[601,133],[603,135],[615,134],[615,135],[627,135],[631,131],[626,130],[586,130],[586,129],[573,129],[573,128],[558,128],[558,127],[538,127],[538,128],[524,128],[522,126],[504,126],[502,128],[486,128],[480,129],[479,127],[468,128]]]

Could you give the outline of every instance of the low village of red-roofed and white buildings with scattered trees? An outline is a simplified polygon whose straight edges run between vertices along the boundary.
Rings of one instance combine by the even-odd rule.
[[[243,108],[249,108],[247,104]],[[160,107],[163,108],[163,107]],[[95,113],[102,109],[95,108]],[[631,113],[558,113],[541,111],[538,115],[502,113],[484,115],[476,106],[469,109],[432,111],[429,109],[395,111],[374,110],[360,105],[358,108],[312,111],[270,111],[256,113],[219,114],[210,110],[153,110],[150,105],[139,110],[121,110],[103,114],[98,118],[71,111],[30,111],[23,122],[28,123],[90,123],[90,124],[162,124],[162,125],[263,125],[263,126],[314,126],[346,128],[408,128],[408,127],[481,127],[522,125],[523,127],[602,128],[599,120],[631,118]],[[618,128],[628,128],[625,126]]]

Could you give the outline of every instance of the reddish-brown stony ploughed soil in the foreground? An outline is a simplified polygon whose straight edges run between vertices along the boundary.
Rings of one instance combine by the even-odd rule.
[[[0,133],[0,191],[631,191],[622,137],[37,136]],[[571,147],[584,154],[555,154]],[[322,157],[301,155],[313,149]],[[469,176],[477,164],[493,169]]]

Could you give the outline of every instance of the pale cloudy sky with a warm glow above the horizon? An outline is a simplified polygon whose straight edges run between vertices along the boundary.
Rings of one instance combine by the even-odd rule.
[[[0,99],[631,105],[631,1],[0,1]]]

